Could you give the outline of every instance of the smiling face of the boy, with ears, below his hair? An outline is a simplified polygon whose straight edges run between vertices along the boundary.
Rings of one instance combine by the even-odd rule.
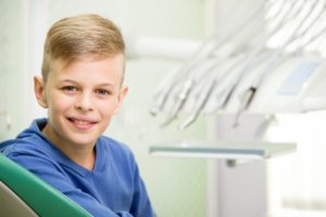
[[[67,66],[54,61],[46,84],[35,78],[38,102],[48,108],[45,135],[57,145],[92,146],[127,93],[121,87],[123,71],[122,54]]]

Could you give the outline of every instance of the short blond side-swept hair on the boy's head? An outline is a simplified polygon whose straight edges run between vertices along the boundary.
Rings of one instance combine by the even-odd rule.
[[[62,60],[66,65],[91,56],[102,59],[125,54],[125,43],[117,26],[96,14],[62,18],[48,31],[45,42],[42,77],[47,80],[51,63]]]

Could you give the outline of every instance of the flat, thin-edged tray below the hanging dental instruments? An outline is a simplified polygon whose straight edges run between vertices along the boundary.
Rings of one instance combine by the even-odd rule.
[[[155,156],[265,159],[296,151],[296,143],[262,141],[179,141],[150,146]]]

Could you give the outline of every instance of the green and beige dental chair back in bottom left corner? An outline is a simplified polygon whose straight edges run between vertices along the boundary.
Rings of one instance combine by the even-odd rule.
[[[91,215],[0,152],[0,216],[86,217]]]

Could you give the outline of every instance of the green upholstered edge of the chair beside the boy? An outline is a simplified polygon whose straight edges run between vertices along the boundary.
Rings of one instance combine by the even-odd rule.
[[[10,189],[17,195],[17,199],[25,202],[38,216],[91,216],[74,201],[1,153],[0,183],[0,188]],[[5,199],[0,196],[0,207],[2,202],[4,203]],[[0,216],[2,216],[1,208]]]

